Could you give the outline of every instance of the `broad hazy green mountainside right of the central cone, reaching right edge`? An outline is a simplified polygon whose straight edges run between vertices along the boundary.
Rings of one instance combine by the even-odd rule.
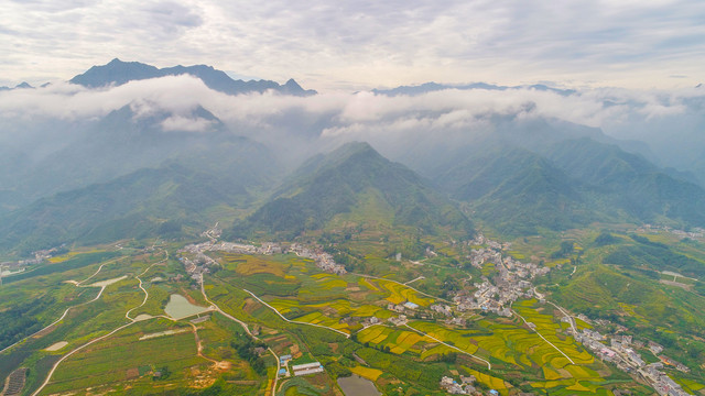
[[[466,147],[431,172],[441,189],[507,235],[593,222],[705,224],[705,190],[642,156],[588,138],[530,151]]]

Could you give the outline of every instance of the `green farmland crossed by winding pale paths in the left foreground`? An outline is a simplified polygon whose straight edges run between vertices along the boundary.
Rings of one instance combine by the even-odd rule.
[[[69,256],[50,265],[69,263],[82,254]],[[40,299],[46,298],[43,296],[61,298],[64,305],[48,305],[45,310],[33,312],[40,323],[43,321],[48,324],[61,316],[61,308],[68,307],[63,320],[4,352],[0,359],[2,378],[20,365],[35,367],[29,371],[23,394],[37,389],[62,358],[64,361],[56,365],[42,394],[75,393],[86,388],[151,389],[154,386],[154,373],[164,371],[164,367],[170,372],[169,381],[165,378],[159,383],[164,388],[192,387],[194,384],[196,388],[205,388],[224,375],[242,376],[242,370],[251,373],[246,362],[237,360],[231,350],[227,351],[229,344],[224,344],[224,340],[231,337],[229,334],[232,332],[224,331],[213,320],[199,323],[199,331],[203,332],[202,348],[205,346],[206,353],[210,352],[214,358],[227,362],[217,367],[212,358],[206,359],[198,353],[195,334],[186,323],[154,318],[133,323],[128,321],[126,327],[128,310],[132,311],[133,317],[163,316],[164,297],[172,293],[181,293],[198,302],[192,297],[198,297],[198,294],[186,290],[183,284],[166,282],[174,273],[183,271],[178,264],[164,260],[162,253],[137,254],[117,261],[105,260],[105,256],[93,257],[96,257],[93,263],[84,261],[83,265],[72,266],[64,272],[37,271],[34,276],[17,282],[17,287],[0,290],[2,294],[21,293]],[[138,288],[138,276],[153,279],[143,285],[148,290],[147,298]],[[46,288],[45,285],[55,286]],[[96,299],[98,292],[100,296]],[[123,330],[102,337],[119,328]],[[148,333],[164,336],[140,340]],[[99,341],[90,343],[91,340]],[[88,344],[88,348],[82,346]],[[51,348],[56,345],[61,348]],[[77,351],[74,353],[74,350]],[[234,385],[234,388],[239,386],[240,389],[252,391],[265,383],[253,373],[247,374],[245,382],[248,385]]]

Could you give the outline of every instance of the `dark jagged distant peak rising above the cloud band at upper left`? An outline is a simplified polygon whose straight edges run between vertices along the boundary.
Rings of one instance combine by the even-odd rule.
[[[275,81],[269,80],[234,80],[225,72],[208,65],[177,65],[156,68],[140,62],[123,62],[117,57],[106,65],[93,66],[86,73],[72,78],[69,82],[88,88],[99,88],[110,85],[119,86],[134,80],[164,76],[181,76],[185,74],[199,78],[210,89],[228,95],[264,92],[267,90],[274,90],[280,94],[293,96],[311,96],[316,94],[315,90],[303,89],[293,78],[286,81],[285,85],[279,85]]]

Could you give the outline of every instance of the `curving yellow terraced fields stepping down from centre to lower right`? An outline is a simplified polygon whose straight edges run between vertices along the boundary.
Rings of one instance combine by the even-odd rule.
[[[285,258],[282,257],[265,258],[285,262]],[[258,267],[271,268],[273,266],[260,264]],[[249,283],[250,278],[260,275],[262,274],[246,275],[241,282]],[[273,271],[267,275],[275,276]],[[388,351],[389,354],[399,356],[399,359],[433,362],[443,356],[458,354],[457,350],[440,344],[411,329],[394,328],[389,323],[361,328],[359,321],[364,318],[375,316],[387,319],[399,315],[387,310],[387,305],[390,302],[411,301],[421,307],[429,307],[433,304],[432,298],[423,296],[408,286],[387,279],[324,274],[315,267],[314,263],[306,261],[301,261],[299,265],[291,265],[283,276],[275,277],[279,279],[276,282],[299,285],[295,295],[282,296],[282,294],[272,290],[272,294],[261,294],[260,298],[291,320],[355,333],[357,343],[376,351]],[[276,285],[265,284],[262,289],[267,290],[273,287]],[[214,288],[213,294],[218,294],[217,288]],[[247,311],[248,315],[256,317],[272,314],[267,312],[267,309],[262,307],[248,308],[251,306],[250,302],[247,302],[248,296],[239,295],[239,293],[235,293],[235,295],[232,296],[232,292],[230,292],[220,295],[218,299],[225,305],[232,304],[232,308],[236,310]],[[232,302],[226,302],[228,300]],[[605,372],[605,366],[596,362],[588,352],[565,334],[568,323],[562,323],[554,317],[552,306],[540,305],[532,299],[517,301],[513,309],[528,322],[533,323],[539,333],[529,329],[518,316],[501,320],[477,319],[478,317],[476,317],[475,324],[470,329],[458,329],[440,321],[427,320],[412,320],[409,326],[462,351],[490,361],[492,370],[497,367],[503,373],[528,375],[525,386],[531,386],[536,391],[546,389],[551,394],[564,395],[600,394],[603,392],[600,389],[605,388],[605,380],[598,371]],[[348,318],[354,320],[350,321]],[[584,322],[578,322],[578,326],[589,327]],[[572,364],[563,353],[571,358],[575,364]],[[466,363],[466,366],[468,370],[479,367],[469,363]],[[372,381],[381,381],[378,372],[386,372],[376,366],[356,366],[350,371],[370,380],[375,378]],[[475,371],[475,373],[482,384],[497,389],[500,394],[507,395],[516,391],[509,383],[492,375],[492,372]],[[387,376],[381,376],[381,378]]]

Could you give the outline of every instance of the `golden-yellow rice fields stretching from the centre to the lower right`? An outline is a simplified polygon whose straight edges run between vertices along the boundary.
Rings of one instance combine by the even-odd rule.
[[[292,264],[281,264],[275,261],[259,260],[251,256],[238,256],[235,263],[236,271],[242,275],[268,273],[276,276],[295,275],[301,280],[299,298],[274,298],[269,304],[290,319],[312,324],[325,326],[344,332],[351,333],[359,328],[354,324],[340,322],[341,317],[367,318],[376,316],[387,319],[394,314],[384,309],[389,301],[403,304],[411,301],[422,307],[433,304],[432,298],[424,297],[414,289],[387,279],[370,279],[358,277],[358,297],[350,300],[350,295],[345,293],[350,284],[347,278],[334,274],[304,274],[300,267]],[[304,265],[305,266],[305,265]],[[302,296],[302,294],[304,296]],[[310,296],[311,298],[304,298]],[[376,300],[375,298],[379,300]],[[371,298],[371,299],[370,299]],[[307,302],[308,301],[308,302]],[[357,302],[359,301],[359,302]],[[362,302],[369,301],[369,302]],[[378,305],[375,305],[378,304]],[[558,350],[549,344],[535,332],[522,326],[519,318],[512,321],[496,322],[481,320],[486,330],[481,334],[477,330],[459,330],[446,328],[442,323],[412,321],[409,326],[427,333],[429,336],[446,342],[462,351],[477,354],[486,359],[497,359],[510,366],[521,370],[536,370],[540,377],[545,381],[534,381],[531,385],[535,388],[557,388],[570,394],[590,393],[597,389],[601,377],[594,370],[585,365],[595,362],[587,351],[575,343],[573,338],[564,334],[566,323],[561,323],[553,316],[553,308],[542,311],[543,306],[535,299],[517,301],[513,309],[527,321],[536,327],[536,331],[553,343]],[[588,328],[589,324],[577,321],[578,327]],[[433,359],[434,355],[457,353],[455,349],[437,343],[432,338],[424,337],[411,330],[390,328],[387,326],[372,326],[357,333],[361,343],[372,346],[389,348],[391,353],[412,353],[421,360]],[[567,354],[576,364],[571,364],[561,352]],[[381,371],[376,369],[357,366],[351,370],[369,380],[377,380]],[[508,393],[508,385],[500,378],[488,374],[474,372],[476,377],[487,386],[497,389],[500,394]]]

